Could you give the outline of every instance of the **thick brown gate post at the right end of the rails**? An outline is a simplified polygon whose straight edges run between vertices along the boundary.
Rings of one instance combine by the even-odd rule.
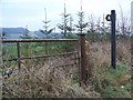
[[[80,34],[80,50],[81,50],[81,68],[80,68],[80,84],[86,83],[88,80],[88,56],[85,53],[85,34]]]

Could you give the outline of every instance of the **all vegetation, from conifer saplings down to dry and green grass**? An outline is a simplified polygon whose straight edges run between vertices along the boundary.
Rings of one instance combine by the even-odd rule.
[[[21,70],[18,70],[17,61],[8,61],[8,59],[18,58],[16,44],[3,44],[2,57],[6,61],[2,73],[12,71],[8,77],[3,74],[3,98],[131,98],[130,29],[127,30],[125,24],[121,27],[123,30],[116,29],[116,69],[114,70],[110,67],[110,26],[106,24],[108,27],[105,27],[104,21],[101,26],[100,20],[95,23],[92,16],[89,22],[84,22],[84,16],[81,6],[74,33],[85,33],[89,41],[88,61],[93,69],[92,78],[89,79],[86,86],[79,86],[79,61],[69,64],[73,59],[78,59],[75,54],[21,60]],[[63,22],[59,23],[58,28],[64,34],[62,38],[78,39],[73,36],[72,19],[68,26],[69,17],[64,4]],[[44,33],[43,38],[49,38],[48,34],[53,29],[48,30],[50,21],[47,20],[47,12],[43,22],[44,29],[40,31]],[[21,38],[31,39],[28,32]],[[21,43],[21,57],[57,54],[76,50],[78,44],[73,42]]]

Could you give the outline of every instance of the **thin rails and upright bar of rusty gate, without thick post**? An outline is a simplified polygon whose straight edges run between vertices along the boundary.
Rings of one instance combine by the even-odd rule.
[[[14,59],[9,59],[8,61],[17,60],[18,61],[18,68],[20,70],[20,67],[21,67],[21,61],[20,60],[22,60],[22,59],[35,59],[35,58],[44,58],[44,57],[53,56],[53,54],[44,54],[44,56],[34,56],[34,57],[21,57],[20,43],[23,43],[23,42],[72,42],[72,41],[76,41],[76,39],[59,39],[59,40],[57,40],[57,39],[34,39],[34,40],[24,39],[24,40],[3,40],[2,42],[10,42],[10,43],[16,42],[17,43],[18,57],[14,58]],[[61,54],[66,54],[66,53],[59,53],[59,56],[61,56]]]

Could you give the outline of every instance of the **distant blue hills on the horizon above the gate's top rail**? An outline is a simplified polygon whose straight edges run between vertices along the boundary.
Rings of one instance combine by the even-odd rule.
[[[2,32],[6,33],[7,39],[20,39],[20,36],[23,36],[24,33],[29,33],[32,38],[43,38],[44,34],[40,32],[39,30],[30,31],[25,28],[2,28]],[[62,38],[61,33],[54,33],[48,36],[48,38]]]

